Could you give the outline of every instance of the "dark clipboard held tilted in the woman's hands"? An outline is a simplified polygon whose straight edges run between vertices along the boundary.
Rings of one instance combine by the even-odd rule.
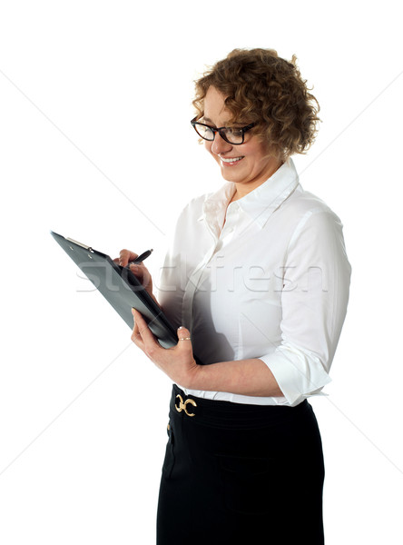
[[[130,329],[133,329],[134,307],[143,314],[145,322],[163,348],[176,345],[176,329],[128,267],[114,263],[109,255],[93,250],[91,246],[53,231],[51,234]]]

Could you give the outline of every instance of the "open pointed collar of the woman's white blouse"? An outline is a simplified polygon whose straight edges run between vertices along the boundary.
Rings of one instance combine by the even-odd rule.
[[[299,185],[299,177],[292,159],[283,163],[266,182],[232,204],[239,206],[251,220],[262,228],[270,215],[279,208]],[[203,203],[203,213],[199,221],[207,223],[224,222],[228,203],[235,193],[235,183],[226,182],[216,192],[209,195]]]

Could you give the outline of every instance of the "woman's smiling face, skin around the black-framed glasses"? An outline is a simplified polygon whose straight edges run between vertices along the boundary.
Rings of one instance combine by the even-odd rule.
[[[209,87],[204,97],[202,123],[214,127],[228,126],[231,112],[225,107],[224,99],[224,95],[215,87]],[[236,198],[241,198],[265,182],[281,164],[269,154],[268,146],[252,133],[253,129],[245,133],[244,143],[240,145],[228,144],[220,134],[216,134],[212,142],[204,141],[207,151],[220,164],[222,177],[236,183]]]

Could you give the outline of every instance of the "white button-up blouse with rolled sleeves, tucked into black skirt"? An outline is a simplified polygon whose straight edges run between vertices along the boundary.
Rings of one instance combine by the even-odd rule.
[[[234,192],[227,182],[184,208],[157,298],[175,326],[191,331],[202,363],[259,358],[284,396],[187,394],[294,406],[330,381],[349,300],[342,224],[302,189],[291,159],[228,204]]]

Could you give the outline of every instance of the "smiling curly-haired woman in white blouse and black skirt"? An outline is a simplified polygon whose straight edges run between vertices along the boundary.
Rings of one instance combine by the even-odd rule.
[[[163,349],[133,311],[133,342],[174,382],[157,542],[319,545],[307,398],[330,380],[350,277],[338,216],[290,159],[312,144],[319,105],[295,57],[265,49],[232,51],[193,104],[226,182],[186,206],[164,263],[158,300],[182,325],[177,345]],[[132,270],[152,292],[145,267]]]

